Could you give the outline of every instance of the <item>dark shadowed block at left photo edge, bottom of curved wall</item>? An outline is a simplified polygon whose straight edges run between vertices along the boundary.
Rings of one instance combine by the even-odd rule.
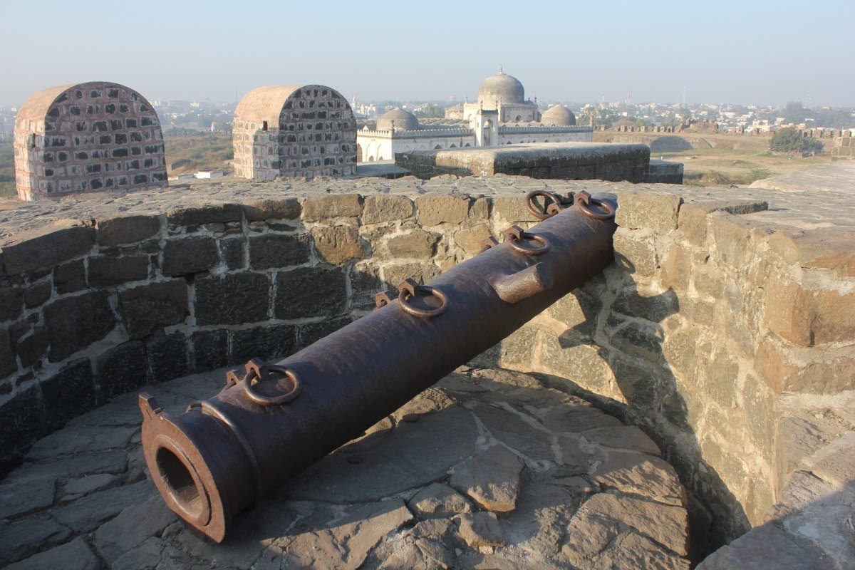
[[[21,463],[21,457],[47,433],[41,391],[33,385],[0,406],[0,478]]]

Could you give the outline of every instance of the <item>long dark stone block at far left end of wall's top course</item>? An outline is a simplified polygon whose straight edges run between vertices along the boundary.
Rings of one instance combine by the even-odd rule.
[[[92,243],[91,227],[67,227],[4,247],[3,266],[7,275],[53,267],[72,257],[82,256],[91,250]]]

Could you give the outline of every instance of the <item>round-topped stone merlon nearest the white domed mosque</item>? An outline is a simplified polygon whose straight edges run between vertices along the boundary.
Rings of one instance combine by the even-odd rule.
[[[347,99],[324,85],[250,91],[234,111],[234,175],[341,176],[356,172],[357,124]]]

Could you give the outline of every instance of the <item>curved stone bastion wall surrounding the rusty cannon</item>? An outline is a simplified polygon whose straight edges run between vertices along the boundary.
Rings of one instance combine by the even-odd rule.
[[[827,199],[805,221],[800,197],[762,189],[409,177],[27,205],[0,254],[0,471],[123,392],[311,344],[534,225],[536,189],[616,193],[616,262],[478,361],[642,427],[695,540],[762,524],[787,478],[781,394],[855,389],[851,218]]]

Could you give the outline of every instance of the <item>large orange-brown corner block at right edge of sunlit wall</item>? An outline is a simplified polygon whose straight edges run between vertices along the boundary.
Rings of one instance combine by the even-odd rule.
[[[765,320],[771,330],[800,346],[855,340],[855,292],[808,289],[770,279]]]

